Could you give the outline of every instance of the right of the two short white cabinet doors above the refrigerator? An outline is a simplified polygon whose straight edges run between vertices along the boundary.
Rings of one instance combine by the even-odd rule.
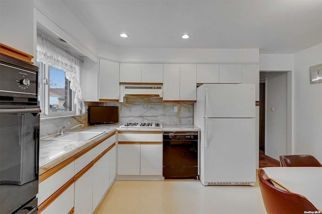
[[[241,83],[241,65],[239,64],[220,64],[219,83]]]

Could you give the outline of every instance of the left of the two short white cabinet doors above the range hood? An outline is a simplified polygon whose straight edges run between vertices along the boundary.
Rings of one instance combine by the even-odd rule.
[[[140,83],[141,64],[120,63],[120,83]]]

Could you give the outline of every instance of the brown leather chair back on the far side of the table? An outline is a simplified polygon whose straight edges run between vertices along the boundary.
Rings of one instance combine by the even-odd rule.
[[[281,166],[322,166],[312,155],[281,155]]]

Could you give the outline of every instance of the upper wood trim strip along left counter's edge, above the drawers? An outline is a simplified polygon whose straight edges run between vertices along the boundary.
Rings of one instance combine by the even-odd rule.
[[[62,169],[65,166],[67,166],[69,163],[71,163],[72,161],[74,161],[77,158],[81,157],[83,154],[85,154],[86,152],[90,151],[91,149],[93,149],[94,147],[96,147],[97,145],[99,145],[100,143],[102,143],[103,141],[107,140],[108,138],[110,138],[111,136],[113,136],[115,134],[116,134],[116,132],[113,132],[113,133],[107,135],[103,139],[93,143],[89,147],[83,149],[82,151],[79,151],[78,153],[74,154],[73,156],[69,157],[68,159],[64,160],[63,162],[59,163],[58,165],[56,165],[56,166],[52,167],[51,169],[45,171],[44,173],[39,175],[39,183],[41,183],[42,181],[46,180],[48,177],[52,176],[53,174],[58,172],[60,169]]]

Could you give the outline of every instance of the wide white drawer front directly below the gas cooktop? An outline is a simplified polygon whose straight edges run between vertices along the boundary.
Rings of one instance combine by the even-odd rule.
[[[160,142],[162,141],[162,134],[134,134],[121,133],[118,135],[118,141],[132,141],[132,142]]]

